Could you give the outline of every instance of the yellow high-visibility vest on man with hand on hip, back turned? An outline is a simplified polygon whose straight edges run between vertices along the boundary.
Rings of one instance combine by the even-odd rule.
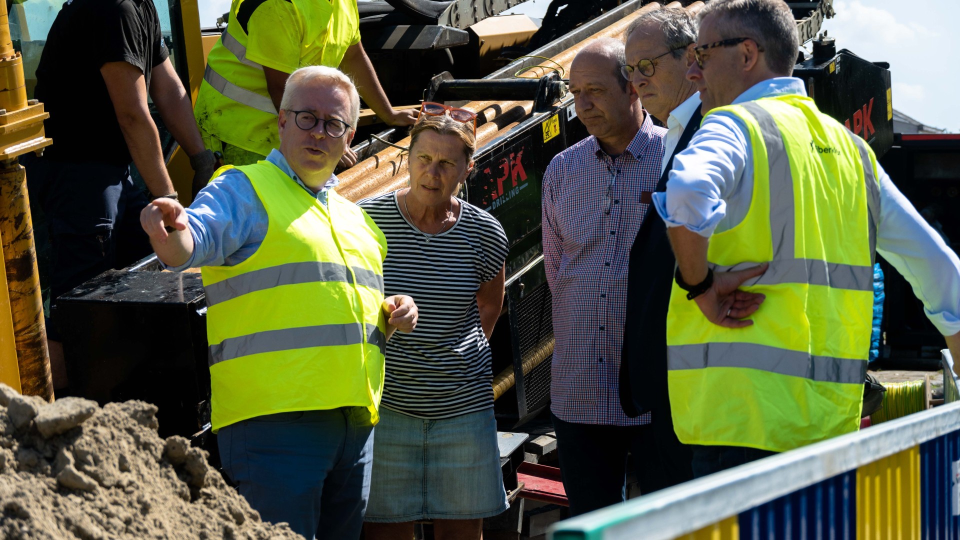
[[[743,289],[754,325],[708,322],[676,283],[667,315],[674,430],[686,444],[783,452],[860,424],[873,318],[879,184],[867,143],[781,95],[722,107],[753,146],[743,221],[710,237],[714,272],[770,262]]]

